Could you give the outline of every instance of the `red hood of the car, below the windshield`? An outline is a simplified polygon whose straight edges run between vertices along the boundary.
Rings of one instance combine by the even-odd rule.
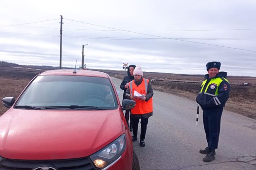
[[[68,159],[91,155],[124,133],[120,110],[20,110],[0,117],[0,155]]]

